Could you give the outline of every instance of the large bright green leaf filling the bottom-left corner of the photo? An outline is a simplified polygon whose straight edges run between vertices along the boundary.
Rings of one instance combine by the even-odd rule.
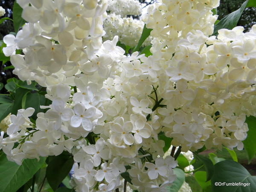
[[[7,160],[6,155],[0,156],[0,190],[1,192],[16,192],[21,186],[29,181],[45,162],[44,157],[26,159],[19,166]]]

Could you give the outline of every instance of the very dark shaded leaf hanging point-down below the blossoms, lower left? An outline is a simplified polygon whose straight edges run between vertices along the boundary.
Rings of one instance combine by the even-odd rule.
[[[54,191],[58,188],[61,181],[68,175],[73,164],[73,156],[67,153],[49,157],[46,178]]]

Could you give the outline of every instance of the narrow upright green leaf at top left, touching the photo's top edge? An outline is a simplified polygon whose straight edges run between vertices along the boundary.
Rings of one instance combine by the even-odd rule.
[[[26,23],[26,21],[21,17],[23,9],[20,7],[20,5],[16,2],[13,4],[13,25],[14,25],[14,30],[17,33],[23,24]]]

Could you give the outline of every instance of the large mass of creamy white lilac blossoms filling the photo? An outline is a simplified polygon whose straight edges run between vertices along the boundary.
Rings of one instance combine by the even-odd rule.
[[[189,162],[187,151],[204,145],[243,148],[245,116],[256,116],[256,25],[211,37],[219,0],[162,0],[142,20],[122,18],[140,15],[138,2],[128,2],[17,0],[27,23],[16,37],[5,36],[3,52],[13,73],[45,87],[52,104],[40,106],[48,111],[36,114],[36,124],[32,108],[11,115],[7,137],[0,136],[9,160],[68,151],[76,191],[113,191],[128,172],[143,192],[176,178],[177,161],[171,149],[164,155],[159,133]],[[125,55],[118,41],[137,45],[143,22],[152,29],[143,44],[151,42],[152,55]]]

